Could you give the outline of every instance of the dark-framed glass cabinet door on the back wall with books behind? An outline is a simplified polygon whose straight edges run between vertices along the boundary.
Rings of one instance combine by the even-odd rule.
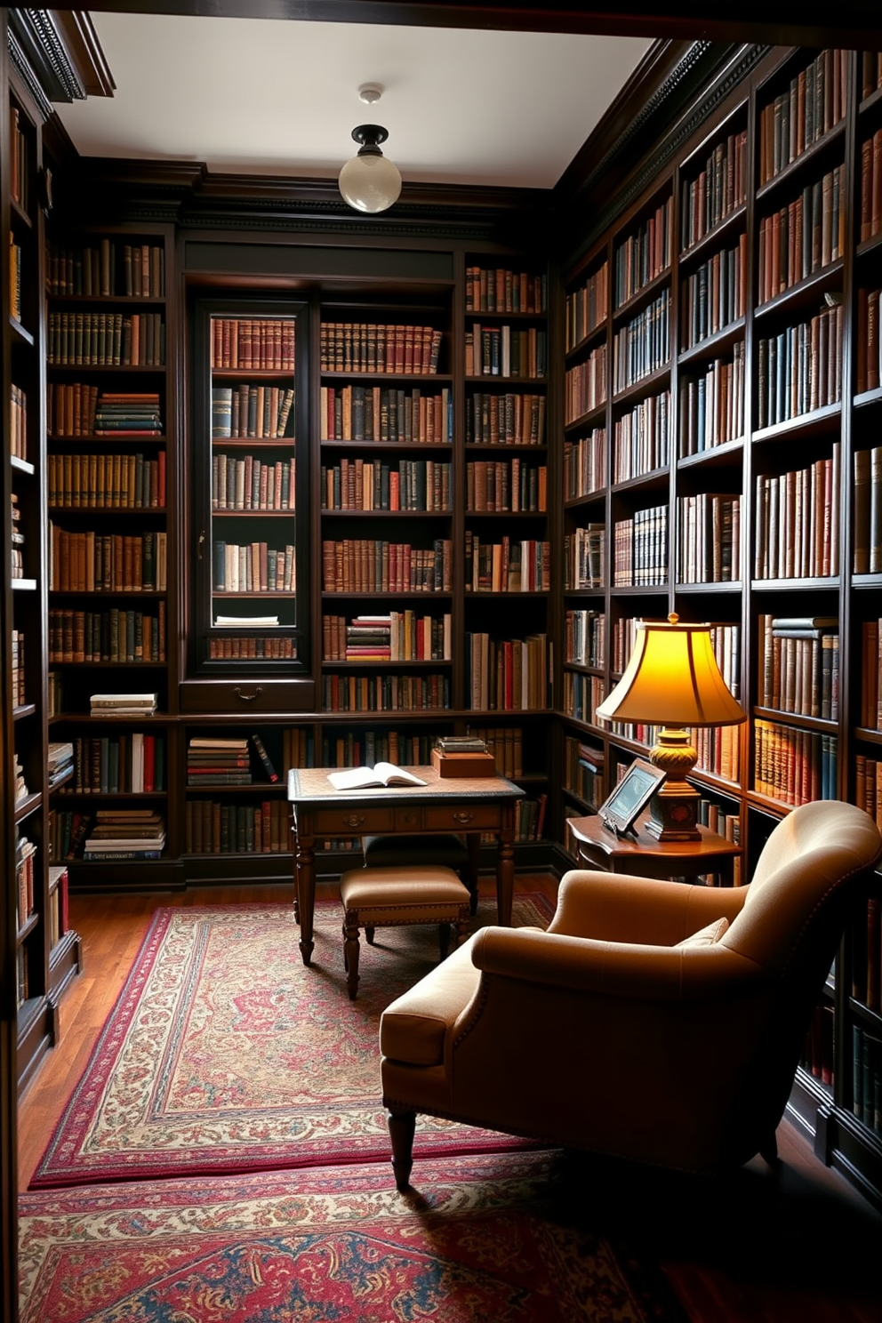
[[[301,303],[196,304],[190,673],[308,660],[307,328]]]

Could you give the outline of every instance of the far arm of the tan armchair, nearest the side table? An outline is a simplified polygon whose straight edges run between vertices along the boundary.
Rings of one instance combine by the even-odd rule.
[[[741,913],[746,886],[698,886],[629,873],[571,869],[561,878],[549,933],[673,946],[717,918]]]

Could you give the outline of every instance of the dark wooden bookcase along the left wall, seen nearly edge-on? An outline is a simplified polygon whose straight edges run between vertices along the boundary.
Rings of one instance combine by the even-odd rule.
[[[4,94],[5,95],[5,94]],[[4,333],[4,704],[11,733],[4,749],[4,905],[16,934],[17,1078],[33,1076],[60,1033],[58,1003],[79,970],[79,939],[67,929],[63,872],[52,869],[52,782],[48,744],[46,536],[44,445],[44,213],[42,118],[25,89],[8,97],[9,307]],[[12,971],[11,971],[12,979]]]

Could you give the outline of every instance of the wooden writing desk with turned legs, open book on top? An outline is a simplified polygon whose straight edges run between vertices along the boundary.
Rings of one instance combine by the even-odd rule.
[[[476,856],[481,832],[495,832],[496,909],[499,922],[512,922],[514,890],[514,807],[524,795],[504,777],[442,778],[434,767],[409,767],[424,786],[335,790],[332,767],[292,767],[288,803],[294,828],[294,881],[300,919],[303,963],[312,959],[316,898],[315,843],[328,836],[378,836],[383,832],[455,831],[468,837]]]

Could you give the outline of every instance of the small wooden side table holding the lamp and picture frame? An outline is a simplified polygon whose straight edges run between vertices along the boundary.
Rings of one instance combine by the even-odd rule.
[[[567,826],[578,841],[581,863],[591,868],[659,878],[719,873],[731,886],[741,845],[707,827],[698,828],[701,840],[660,841],[645,831],[645,822],[644,812],[633,836],[616,836],[598,816],[570,818]]]

